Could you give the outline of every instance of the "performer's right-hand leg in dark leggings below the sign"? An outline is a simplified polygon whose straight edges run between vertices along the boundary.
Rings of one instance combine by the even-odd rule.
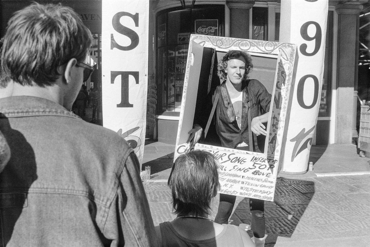
[[[253,235],[255,238],[265,237],[265,201],[249,198],[249,208],[252,213]]]

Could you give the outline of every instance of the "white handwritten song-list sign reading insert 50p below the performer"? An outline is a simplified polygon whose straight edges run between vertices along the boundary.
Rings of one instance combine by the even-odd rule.
[[[273,201],[276,178],[262,153],[197,143],[195,150],[212,153],[219,161],[220,193]]]

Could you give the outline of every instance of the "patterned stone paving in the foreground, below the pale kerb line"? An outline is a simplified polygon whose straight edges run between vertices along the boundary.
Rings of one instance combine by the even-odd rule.
[[[278,178],[274,202],[265,203],[266,246],[370,246],[369,185],[370,175]],[[145,190],[154,224],[174,219],[166,182],[151,182]],[[218,196],[212,219],[217,207]],[[250,219],[249,199],[237,197],[229,223]]]

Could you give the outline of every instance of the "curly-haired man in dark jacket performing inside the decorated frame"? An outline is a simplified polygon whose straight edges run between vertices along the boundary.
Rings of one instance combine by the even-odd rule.
[[[244,51],[228,51],[218,63],[217,74],[223,83],[214,92],[209,92],[208,97],[210,101],[212,96],[212,104],[209,105],[213,106],[217,101],[214,119],[216,133],[222,147],[261,152],[256,137],[267,134],[263,123],[268,121],[271,94],[258,80],[248,79],[252,68],[252,58]],[[191,144],[198,142],[201,138],[210,115],[209,112],[209,109],[205,109],[204,114],[194,117],[194,126],[189,131],[188,139]],[[250,131],[253,132],[253,136]],[[228,223],[235,199],[236,196],[220,193],[216,223]],[[255,244],[256,246],[264,246],[264,201],[250,198],[249,205],[252,213],[251,227]]]

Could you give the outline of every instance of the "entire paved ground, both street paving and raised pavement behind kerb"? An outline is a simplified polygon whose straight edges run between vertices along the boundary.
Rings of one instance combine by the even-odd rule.
[[[167,186],[174,145],[146,144],[143,167],[152,166],[152,174],[144,187],[158,225],[175,218]],[[266,247],[370,247],[370,159],[357,153],[354,145],[312,146],[313,172],[279,174],[274,202],[265,202]],[[211,219],[218,203],[216,196]],[[229,223],[250,219],[249,199],[238,196]]]

